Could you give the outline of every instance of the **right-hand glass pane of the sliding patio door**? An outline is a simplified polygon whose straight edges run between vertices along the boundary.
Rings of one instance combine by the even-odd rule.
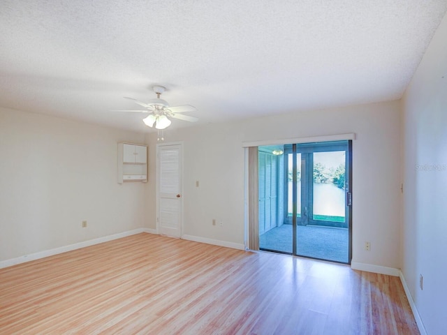
[[[302,152],[301,224],[297,221],[296,253],[311,258],[349,262],[346,220],[346,157],[348,144],[307,144]],[[303,172],[304,173],[304,172]]]

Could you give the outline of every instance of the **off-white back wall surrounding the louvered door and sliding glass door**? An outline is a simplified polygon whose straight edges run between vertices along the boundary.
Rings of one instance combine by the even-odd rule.
[[[166,142],[184,142],[183,234],[244,243],[242,142],[339,133],[357,134],[353,262],[400,268],[401,111],[397,101],[166,131]],[[147,140],[154,152],[156,136]],[[150,199],[155,197],[154,183],[149,180]],[[223,226],[213,226],[213,218]],[[155,229],[155,218],[148,218],[148,224]],[[364,250],[365,241],[371,242],[369,252]]]

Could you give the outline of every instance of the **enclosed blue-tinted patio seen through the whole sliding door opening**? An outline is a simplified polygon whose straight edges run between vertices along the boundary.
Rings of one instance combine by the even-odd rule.
[[[261,249],[351,262],[350,148],[350,141],[259,147]],[[269,151],[275,168],[265,165]],[[265,170],[278,172],[266,176]],[[270,194],[277,216],[268,224],[261,197],[264,189],[273,190],[266,184],[277,190]]]

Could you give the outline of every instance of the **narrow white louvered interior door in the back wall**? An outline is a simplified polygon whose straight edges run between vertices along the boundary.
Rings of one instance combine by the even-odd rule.
[[[182,234],[182,144],[157,144],[157,225],[170,237]]]

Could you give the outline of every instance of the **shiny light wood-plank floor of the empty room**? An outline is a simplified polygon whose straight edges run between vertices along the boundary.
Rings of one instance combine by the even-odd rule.
[[[0,269],[0,334],[419,334],[400,279],[137,234]]]

